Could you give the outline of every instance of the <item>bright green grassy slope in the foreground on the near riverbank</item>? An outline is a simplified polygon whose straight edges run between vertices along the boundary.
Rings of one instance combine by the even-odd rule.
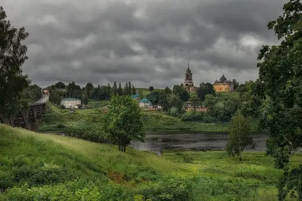
[[[291,159],[301,162],[301,154]],[[0,124],[1,201],[277,201],[281,174],[263,153],[242,162],[220,151],[121,153]]]

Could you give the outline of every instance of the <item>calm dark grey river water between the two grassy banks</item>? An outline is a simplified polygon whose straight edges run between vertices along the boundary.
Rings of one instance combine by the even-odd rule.
[[[246,151],[265,151],[267,133],[254,135],[255,149]],[[145,143],[133,140],[131,147],[161,153],[163,150],[225,150],[227,133],[198,131],[165,131],[146,133]]]

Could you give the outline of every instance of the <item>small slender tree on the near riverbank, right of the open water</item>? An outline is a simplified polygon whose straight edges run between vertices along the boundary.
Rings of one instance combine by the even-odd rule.
[[[239,157],[242,161],[242,152],[245,147],[254,147],[253,129],[250,118],[245,118],[240,111],[233,116],[227,136],[227,154],[232,157]]]

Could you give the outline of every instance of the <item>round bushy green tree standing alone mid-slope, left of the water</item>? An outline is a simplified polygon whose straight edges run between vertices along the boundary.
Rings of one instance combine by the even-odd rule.
[[[122,152],[132,139],[144,142],[142,111],[137,102],[130,96],[113,97],[104,117],[104,131]]]

